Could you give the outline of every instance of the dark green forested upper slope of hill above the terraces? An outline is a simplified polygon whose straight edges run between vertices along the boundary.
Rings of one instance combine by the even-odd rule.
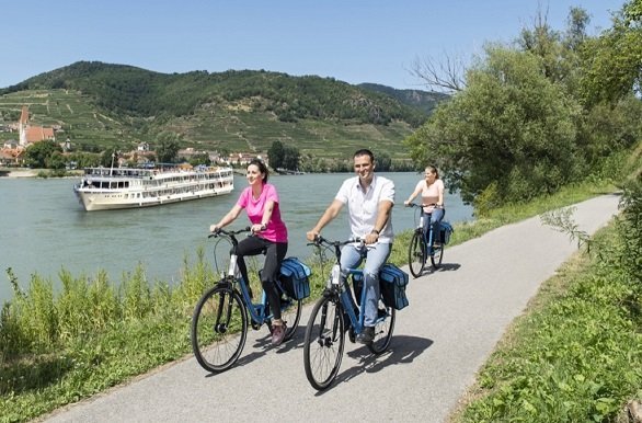
[[[422,113],[425,108],[409,106],[388,93],[381,95],[381,91],[331,78],[263,70],[159,73],[125,65],[79,61],[0,93],[42,89],[78,90],[107,111],[135,116],[184,116],[205,103],[249,103],[253,111],[270,111],[282,122],[312,117],[387,125],[399,119],[416,127],[426,118]]]

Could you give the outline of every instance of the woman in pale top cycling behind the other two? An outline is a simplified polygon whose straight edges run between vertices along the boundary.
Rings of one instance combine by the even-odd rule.
[[[424,219],[424,231],[427,233],[429,224],[433,226],[433,233],[438,237],[439,222],[444,219],[446,208],[444,206],[444,181],[439,179],[439,172],[434,165],[426,167],[424,179],[416,184],[413,193],[403,204],[408,206],[420,194],[422,195],[424,213],[431,215],[429,219]],[[428,253],[432,253],[435,241],[438,239],[428,240]]]

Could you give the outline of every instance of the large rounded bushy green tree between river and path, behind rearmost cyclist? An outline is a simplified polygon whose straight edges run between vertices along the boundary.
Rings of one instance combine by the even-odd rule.
[[[576,174],[578,104],[546,78],[539,57],[486,46],[467,89],[437,107],[406,140],[413,159],[436,163],[465,201],[521,201],[552,192]]]

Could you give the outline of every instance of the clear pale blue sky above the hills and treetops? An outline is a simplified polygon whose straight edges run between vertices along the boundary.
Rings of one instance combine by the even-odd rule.
[[[514,41],[538,10],[611,24],[624,0],[28,0],[2,5],[0,88],[78,60],[172,73],[265,69],[424,89],[409,69]]]

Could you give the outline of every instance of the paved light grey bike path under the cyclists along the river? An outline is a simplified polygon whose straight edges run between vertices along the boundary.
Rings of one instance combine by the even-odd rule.
[[[594,233],[617,213],[618,201],[606,195],[577,204],[578,229]],[[46,421],[443,422],[506,327],[576,251],[576,242],[539,217],[447,248],[440,271],[411,276],[410,307],[397,315],[390,350],[375,357],[346,338],[339,376],[324,392],[303,370],[306,307],[291,341],[273,347],[265,328],[251,331],[226,373],[209,375],[186,357]]]

